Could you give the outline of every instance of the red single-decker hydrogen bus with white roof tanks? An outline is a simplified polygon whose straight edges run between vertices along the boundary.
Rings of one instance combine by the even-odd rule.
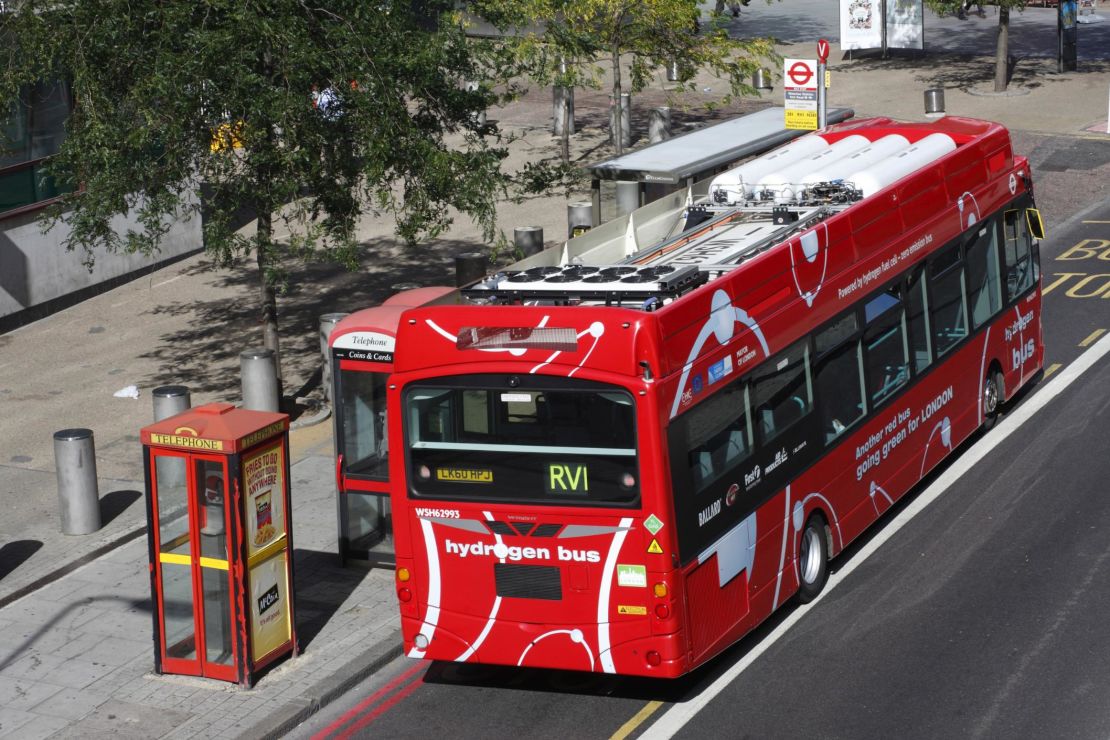
[[[829,558],[1041,369],[1043,225],[1006,129],[805,139],[624,262],[405,312],[387,398],[408,656],[685,673],[816,598]]]

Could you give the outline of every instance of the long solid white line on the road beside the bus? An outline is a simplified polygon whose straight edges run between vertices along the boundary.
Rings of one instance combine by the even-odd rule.
[[[860,550],[852,556],[850,561],[846,562],[842,568],[839,568],[836,574],[829,577],[828,584],[825,586],[825,590],[819,597],[806,606],[795,609],[789,617],[784,619],[781,624],[774,629],[774,631],[767,635],[767,637],[761,639],[758,643],[753,645],[751,649],[744,653],[744,657],[740,658],[735,666],[725,671],[716,681],[714,681],[694,699],[672,707],[665,714],[659,717],[658,721],[647,728],[640,738],[646,740],[666,740],[667,738],[674,737],[675,733],[678,732],[678,730],[680,730],[688,721],[690,721],[695,714],[713,701],[713,699],[716,698],[716,696],[720,693],[726,686],[731,683],[737,676],[743,673],[748,666],[754,663],[759,656],[761,656],[770,646],[783,637],[797,621],[809,614],[810,609],[813,609],[815,605],[819,604],[829,591],[839,586],[852,570],[866,561],[867,558],[871,557],[871,555],[874,555],[884,543],[894,537],[899,529],[905,527],[914,517],[932,504],[932,501],[937,500],[949,486],[959,479],[960,476],[975,467],[979,460],[986,457],[995,447],[1000,445],[1002,440],[1017,432],[1022,424],[1028,422],[1033,416],[1033,414],[1047,406],[1050,401],[1060,395],[1064,388],[1077,381],[1084,372],[1090,369],[1090,367],[1101,359],[1107,353],[1110,353],[1110,334],[1099,339],[1098,344],[1081,354],[1063,372],[1048,382],[1040,391],[1035,393],[1031,398],[1002,418],[998,426],[996,426],[989,434],[985,435],[970,449],[967,449],[962,455],[957,457],[948,469],[932,483],[932,485],[921,491],[921,494],[905,509],[902,509],[898,516],[884,525],[881,529],[879,529],[870,539],[870,541],[868,541],[866,546],[860,548]]]

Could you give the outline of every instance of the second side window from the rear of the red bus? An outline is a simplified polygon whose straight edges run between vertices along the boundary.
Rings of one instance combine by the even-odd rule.
[[[806,417],[814,408],[809,341],[797,342],[765,362],[755,373],[751,395],[763,443]]]

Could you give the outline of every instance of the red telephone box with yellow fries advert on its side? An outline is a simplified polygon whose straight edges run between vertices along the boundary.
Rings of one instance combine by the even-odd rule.
[[[249,687],[297,651],[289,416],[209,404],[142,444],[154,670]]]

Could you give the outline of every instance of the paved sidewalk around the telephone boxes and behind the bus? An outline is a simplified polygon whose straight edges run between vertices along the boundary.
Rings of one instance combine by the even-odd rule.
[[[778,33],[784,57],[811,58],[819,34],[836,38],[836,3],[790,0],[745,8],[737,33]],[[1100,29],[1080,29],[1081,71],[1057,74],[1046,55],[1054,37],[1052,11],[1027,10],[1015,19],[1033,52],[1018,64],[1015,93],[983,94],[991,79],[989,49],[995,19],[929,17],[925,58],[874,54],[848,59],[836,44],[829,103],[857,115],[925,120],[924,91],[942,87],[950,113],[1008,125],[1015,149],[1033,165],[1038,202],[1051,229],[1093,199],[1110,196],[1110,6]],[[824,13],[824,16],[821,14]],[[826,28],[833,19],[831,30]],[[825,24],[823,27],[823,23]],[[1048,41],[1046,41],[1048,38]],[[1096,45],[1100,43],[1101,45]],[[718,112],[698,105],[724,87],[698,80],[683,110],[663,80],[634,101],[634,128],[643,135],[647,111],[675,104],[676,131],[781,104],[781,91]],[[582,133],[573,156],[581,163],[609,154],[604,144],[605,91],[579,91]],[[551,93],[536,90],[491,119],[524,139],[511,146],[509,165],[554,156],[546,132]],[[588,187],[588,185],[587,185]],[[502,229],[544,227],[548,244],[565,235],[566,197],[505,203]],[[1079,195],[1081,194],[1081,195]],[[320,355],[316,323],[333,311],[380,303],[401,282],[444,284],[453,256],[481,249],[477,231],[460,220],[445,239],[407,251],[384,220],[362,225],[363,270],[343,273],[313,266],[280,304],[282,359],[287,393],[314,391]],[[279,663],[243,691],[215,681],[157,677],[151,639],[150,581],[139,429],[151,418],[150,392],[184,384],[199,405],[239,401],[239,352],[259,343],[253,306],[255,273],[244,261],[214,272],[203,255],[165,266],[68,311],[0,335],[0,738],[122,736],[134,738],[275,737],[360,677],[397,655],[392,574],[342,569],[335,556],[335,494],[331,420],[291,434],[293,544],[297,625],[303,653]],[[138,401],[113,397],[138,385]],[[59,534],[51,435],[68,427],[95,434],[103,528],[85,537]]]

